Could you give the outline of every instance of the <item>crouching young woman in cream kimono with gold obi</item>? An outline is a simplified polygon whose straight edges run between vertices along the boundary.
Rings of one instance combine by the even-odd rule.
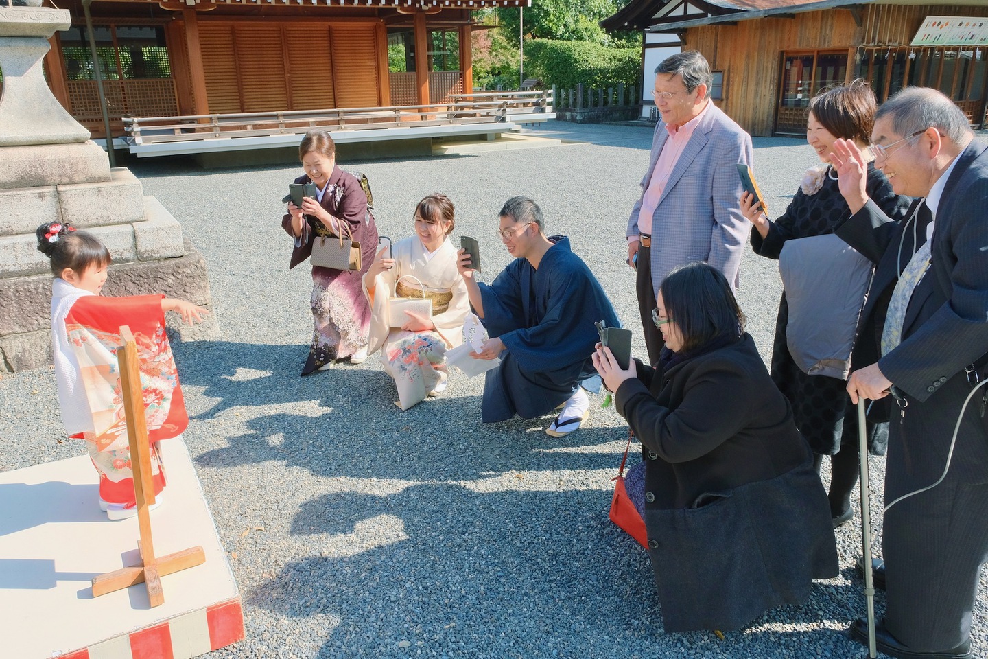
[[[380,349],[403,410],[446,389],[446,350],[463,342],[469,312],[449,237],[453,202],[446,195],[426,197],[415,208],[414,227],[415,235],[396,243],[392,254],[381,249],[364,276],[364,293],[371,302],[370,352]],[[390,327],[388,297],[421,297],[423,291],[432,299],[433,316],[406,311],[401,327]]]

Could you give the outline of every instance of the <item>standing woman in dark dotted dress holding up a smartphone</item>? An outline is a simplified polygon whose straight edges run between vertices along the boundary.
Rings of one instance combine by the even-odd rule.
[[[772,347],[772,379],[792,405],[796,427],[815,454],[817,471],[823,456],[831,456],[829,500],[834,528],[854,517],[851,493],[858,481],[858,415],[844,388],[851,345],[841,355],[846,359],[839,369],[817,365],[812,357],[802,353],[805,349],[807,353],[821,354],[820,336],[843,334],[854,340],[858,314],[870,281],[870,264],[864,264],[860,291],[854,293],[853,299],[849,298],[852,293],[848,290],[853,288],[842,279],[848,268],[838,265],[837,259],[854,258],[854,255],[849,255],[850,248],[832,234],[835,227],[851,217],[851,209],[841,195],[837,174],[829,163],[838,137],[854,141],[873,161],[868,143],[875,110],[874,94],[864,80],[815,96],[809,102],[806,141],[823,164],[806,172],[792,202],[775,219],[766,217],[751,194],[741,196],[741,211],[754,225],[752,248],[756,254],[780,261],[783,292]],[[888,180],[875,169],[873,162],[867,165],[867,193],[889,217],[905,216],[909,200],[892,192]],[[816,322],[807,330],[789,326],[790,302],[800,300],[807,305],[797,309],[801,317],[819,314],[813,316]],[[850,315],[841,319],[833,312],[835,308],[847,309]],[[867,432],[871,452],[885,453],[888,424],[869,423]]]

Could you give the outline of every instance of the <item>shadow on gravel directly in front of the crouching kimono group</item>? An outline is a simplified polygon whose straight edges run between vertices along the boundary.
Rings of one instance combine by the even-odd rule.
[[[588,427],[553,439],[543,432],[552,415],[482,424],[480,396],[455,397],[454,387],[402,412],[393,403],[390,376],[370,362],[300,377],[305,350],[218,341],[183,345],[183,384],[204,387],[202,398],[215,401],[194,419],[238,410],[249,430],[226,437],[227,447],[199,454],[198,464],[279,460],[319,476],[408,480],[473,479],[510,469],[617,470],[623,426]]]

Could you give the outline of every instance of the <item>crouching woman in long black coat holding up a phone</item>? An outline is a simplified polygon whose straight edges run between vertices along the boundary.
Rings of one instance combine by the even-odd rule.
[[[666,631],[738,629],[837,576],[830,507],[809,446],[730,286],[692,263],[662,283],[655,368],[594,366],[641,442],[645,528]]]

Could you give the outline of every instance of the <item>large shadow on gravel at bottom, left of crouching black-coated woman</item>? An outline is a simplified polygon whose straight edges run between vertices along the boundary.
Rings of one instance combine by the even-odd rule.
[[[664,633],[647,554],[609,522],[609,504],[600,490],[453,483],[323,495],[302,506],[291,534],[329,535],[332,549],[289,562],[246,601],[334,620],[320,657],[401,656],[402,641],[425,656],[610,657],[614,642],[629,657],[853,656],[843,631],[804,631],[830,609],[821,598],[851,596],[847,585],[818,584],[806,605],[724,641]]]

